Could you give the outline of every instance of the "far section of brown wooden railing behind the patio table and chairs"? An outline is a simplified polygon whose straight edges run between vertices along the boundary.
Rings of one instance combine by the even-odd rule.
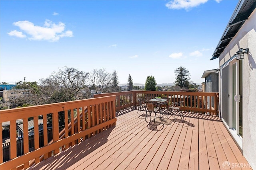
[[[184,111],[194,111],[211,115],[218,114],[218,93],[134,90],[128,92],[94,94],[94,98],[109,95],[116,95],[116,110],[121,110],[131,106],[136,107],[137,98],[150,100],[160,96],[162,98],[168,98],[170,104],[172,102],[184,101],[184,106],[181,107]]]

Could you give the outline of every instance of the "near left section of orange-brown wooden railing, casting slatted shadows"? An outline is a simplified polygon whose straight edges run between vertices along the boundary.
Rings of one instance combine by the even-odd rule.
[[[0,124],[10,121],[10,158],[3,162],[3,152],[0,152],[0,169],[28,168],[31,162],[40,162],[40,157],[46,159],[67,149],[76,143],[94,136],[116,124],[116,96],[92,98],[57,104],[24,107],[0,111]],[[87,108],[87,109],[86,109]],[[86,111],[87,110],[87,111]],[[76,114],[75,114],[76,113]],[[39,147],[38,116],[43,116],[43,133],[47,134],[49,117],[52,119],[52,142],[48,143],[47,135],[44,135],[44,146]],[[59,116],[64,117],[64,133],[59,133]],[[28,148],[28,119],[34,119],[34,149]],[[24,155],[17,157],[16,120],[23,119],[23,143]],[[60,137],[60,134],[62,137]],[[2,131],[0,131],[2,139]],[[2,151],[0,140],[0,151]]]

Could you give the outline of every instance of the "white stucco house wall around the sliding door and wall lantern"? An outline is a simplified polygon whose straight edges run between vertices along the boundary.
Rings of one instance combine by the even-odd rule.
[[[242,153],[253,169],[256,169],[256,10],[242,25],[219,57],[220,66],[228,63],[239,48],[249,48],[242,60]],[[220,82],[220,81],[219,81]],[[220,83],[219,83],[220,85]],[[221,101],[221,100],[220,100]]]

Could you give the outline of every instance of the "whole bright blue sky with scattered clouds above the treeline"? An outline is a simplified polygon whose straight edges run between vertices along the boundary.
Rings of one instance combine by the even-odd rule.
[[[0,1],[0,82],[38,81],[64,66],[116,70],[119,83],[204,82],[238,0]]]

